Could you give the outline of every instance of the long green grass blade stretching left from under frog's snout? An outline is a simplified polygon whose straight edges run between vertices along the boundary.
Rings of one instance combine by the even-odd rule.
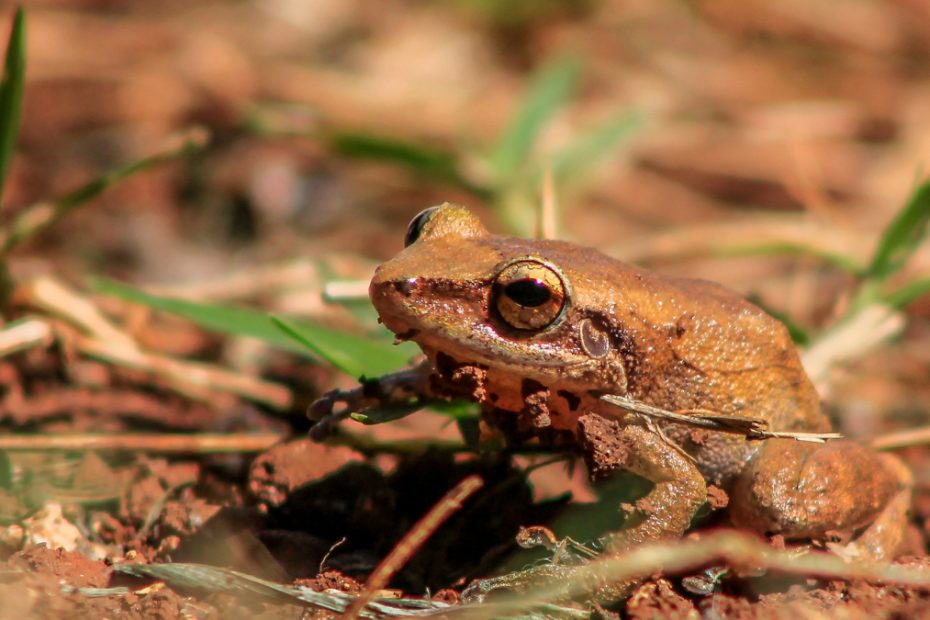
[[[287,321],[292,331],[285,333],[279,327],[281,319],[276,324],[266,312],[258,310],[157,297],[102,279],[95,282],[95,288],[107,295],[183,316],[206,329],[258,338],[304,355],[312,352],[312,357],[322,358],[355,377],[374,377],[397,370],[416,353],[412,344],[395,347],[306,320]]]

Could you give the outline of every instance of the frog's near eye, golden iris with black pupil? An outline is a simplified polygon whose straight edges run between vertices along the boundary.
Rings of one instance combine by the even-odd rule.
[[[562,316],[566,291],[552,267],[521,260],[504,267],[494,281],[493,303],[500,317],[516,329],[538,330]]]

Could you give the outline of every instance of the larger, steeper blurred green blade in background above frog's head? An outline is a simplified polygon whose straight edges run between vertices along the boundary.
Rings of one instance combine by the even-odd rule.
[[[520,111],[488,158],[498,182],[519,172],[546,122],[571,95],[578,73],[577,60],[566,56],[546,66],[533,79]]]

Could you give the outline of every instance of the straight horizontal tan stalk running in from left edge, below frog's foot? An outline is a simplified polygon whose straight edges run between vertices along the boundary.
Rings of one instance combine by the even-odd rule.
[[[112,450],[159,454],[218,454],[262,452],[287,436],[281,433],[114,433],[57,435],[0,435],[2,451]]]

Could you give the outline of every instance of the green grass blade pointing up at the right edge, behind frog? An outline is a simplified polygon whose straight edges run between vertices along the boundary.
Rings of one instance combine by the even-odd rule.
[[[925,181],[885,229],[866,277],[881,282],[900,269],[923,241],[928,223],[930,181]]]

